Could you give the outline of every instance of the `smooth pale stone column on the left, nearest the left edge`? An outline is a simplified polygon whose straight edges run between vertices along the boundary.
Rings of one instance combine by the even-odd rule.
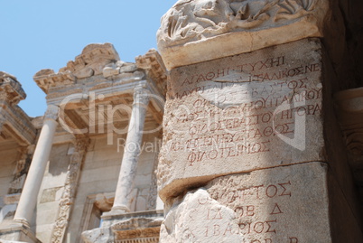
[[[41,135],[39,136],[33,154],[32,164],[14,215],[15,221],[22,222],[26,226],[30,226],[29,223],[33,217],[33,211],[42,184],[42,177],[51,154],[51,145],[55,130],[58,126],[58,111],[59,107],[49,105],[45,112]]]

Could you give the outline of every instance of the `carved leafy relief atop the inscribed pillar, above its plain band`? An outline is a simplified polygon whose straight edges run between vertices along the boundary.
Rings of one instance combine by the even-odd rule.
[[[181,0],[163,16],[158,38],[159,42],[175,45],[222,33],[258,31],[313,14],[316,3],[317,0]]]

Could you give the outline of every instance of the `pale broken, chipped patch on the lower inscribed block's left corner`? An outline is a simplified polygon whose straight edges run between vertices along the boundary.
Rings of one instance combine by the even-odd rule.
[[[244,236],[236,213],[199,189],[188,192],[166,214],[160,242],[244,242]]]

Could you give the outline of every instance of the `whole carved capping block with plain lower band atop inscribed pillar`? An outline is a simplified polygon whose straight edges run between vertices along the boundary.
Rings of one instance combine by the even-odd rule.
[[[172,69],[321,37],[328,13],[327,0],[180,0],[162,18],[158,47]]]

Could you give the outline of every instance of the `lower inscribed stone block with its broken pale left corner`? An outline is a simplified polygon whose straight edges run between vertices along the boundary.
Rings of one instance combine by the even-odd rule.
[[[161,242],[331,242],[327,166],[219,177],[174,201]]]

